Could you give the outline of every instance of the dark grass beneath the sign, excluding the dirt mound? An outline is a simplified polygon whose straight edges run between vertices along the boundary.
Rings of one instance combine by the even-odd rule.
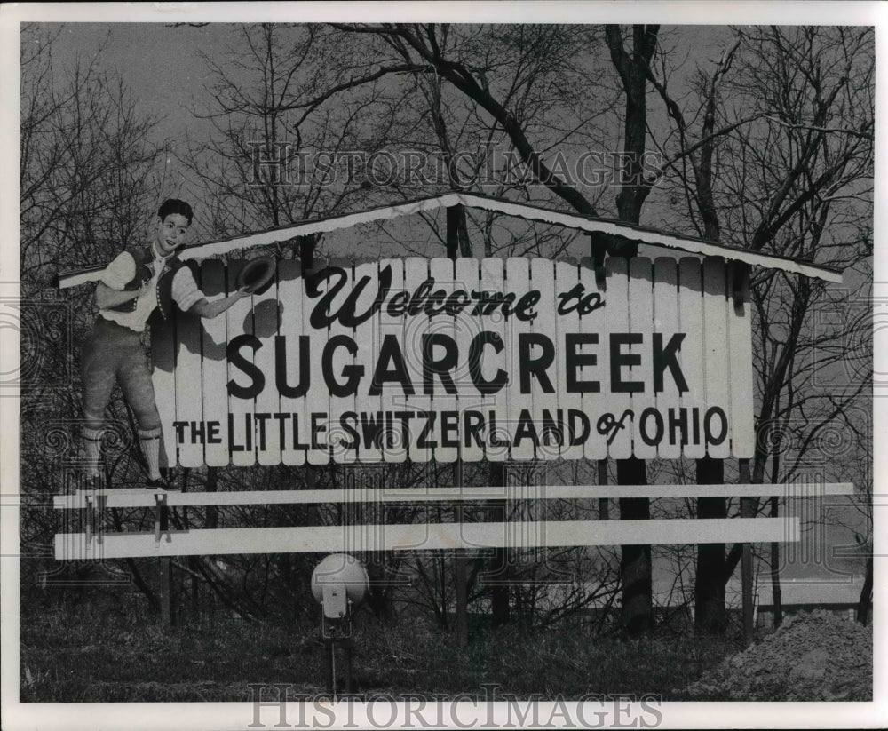
[[[618,640],[583,631],[478,630],[467,646],[421,619],[355,623],[355,675],[363,695],[578,698],[683,688],[736,651],[693,636]],[[218,618],[163,627],[151,616],[55,608],[21,617],[22,702],[248,701],[249,684],[323,692],[319,627]]]

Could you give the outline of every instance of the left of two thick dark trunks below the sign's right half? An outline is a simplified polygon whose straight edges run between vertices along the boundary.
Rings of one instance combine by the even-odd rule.
[[[616,461],[618,485],[646,485],[647,470],[643,459]],[[620,520],[649,520],[650,501],[645,497],[621,497]],[[623,545],[620,560],[622,576],[622,629],[634,637],[648,632],[654,626],[654,597],[652,592],[651,547]]]

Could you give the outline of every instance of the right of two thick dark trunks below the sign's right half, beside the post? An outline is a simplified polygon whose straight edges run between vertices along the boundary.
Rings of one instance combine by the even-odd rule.
[[[703,457],[697,460],[697,484],[716,485],[725,481],[725,463]],[[697,500],[697,518],[726,518],[724,497]],[[725,608],[725,544],[697,546],[697,575],[694,581],[694,629],[697,632],[724,634],[727,629]]]

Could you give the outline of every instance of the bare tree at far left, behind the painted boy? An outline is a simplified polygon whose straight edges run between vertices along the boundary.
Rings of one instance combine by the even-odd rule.
[[[91,288],[59,300],[45,299],[45,291],[59,270],[109,261],[138,242],[155,203],[154,120],[139,112],[119,77],[99,68],[100,49],[64,64],[54,59],[61,32],[21,29],[21,492],[23,536],[32,547],[52,545],[59,519],[45,496],[77,464],[76,352],[92,318]],[[112,421],[125,421],[122,401],[111,409]],[[115,438],[107,449],[112,465],[135,451],[122,433]],[[139,568],[131,572],[150,600]]]

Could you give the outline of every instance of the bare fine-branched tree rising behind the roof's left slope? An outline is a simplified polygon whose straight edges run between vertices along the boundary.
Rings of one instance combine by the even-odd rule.
[[[205,191],[210,234],[380,202],[363,165],[412,133],[416,90],[397,80],[411,64],[377,65],[368,46],[325,26],[266,23],[234,28],[224,60],[203,53],[210,102],[194,115],[211,139],[192,144],[186,163]]]

